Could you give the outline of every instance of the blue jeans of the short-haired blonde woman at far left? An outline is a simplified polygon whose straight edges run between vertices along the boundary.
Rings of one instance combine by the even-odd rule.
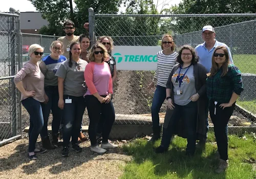
[[[29,152],[34,152],[36,140],[44,125],[44,118],[42,117],[42,108],[39,101],[34,98],[27,98],[22,100],[23,106],[27,109],[30,119],[29,125]]]

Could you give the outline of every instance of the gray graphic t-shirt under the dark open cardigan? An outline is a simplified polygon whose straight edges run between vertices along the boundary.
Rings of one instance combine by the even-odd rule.
[[[179,72],[180,72],[180,76],[183,76],[184,73],[186,72],[180,87],[179,87],[179,80],[177,78],[179,76]],[[196,87],[195,87],[194,66],[190,65],[189,68],[187,67],[187,68],[181,69],[181,71],[179,68],[172,76],[172,82],[174,85],[174,102],[182,106],[187,105],[191,101],[189,98],[197,93]],[[182,94],[178,95],[177,91],[180,91],[180,90],[182,91]]]

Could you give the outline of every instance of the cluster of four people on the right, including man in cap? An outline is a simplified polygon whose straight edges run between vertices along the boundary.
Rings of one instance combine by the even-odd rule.
[[[152,83],[156,91],[152,103],[153,137],[160,139],[159,110],[166,99],[161,145],[156,153],[168,150],[175,134],[187,139],[186,155],[192,156],[207,139],[208,112],[218,145],[220,161],[216,172],[228,167],[227,124],[235,103],[243,91],[241,72],[233,64],[226,44],[215,39],[211,26],[204,26],[204,43],[195,49],[182,46],[175,52],[171,35],[162,37],[162,51],[158,52],[157,71]]]

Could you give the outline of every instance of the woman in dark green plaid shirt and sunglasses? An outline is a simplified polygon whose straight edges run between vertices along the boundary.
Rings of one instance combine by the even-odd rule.
[[[227,123],[233,114],[236,101],[243,91],[241,72],[229,62],[228,49],[218,46],[211,59],[211,70],[207,74],[207,97],[209,112],[220,154],[217,173],[228,167]]]

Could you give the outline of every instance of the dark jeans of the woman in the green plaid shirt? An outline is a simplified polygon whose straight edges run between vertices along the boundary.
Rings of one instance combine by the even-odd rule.
[[[233,114],[235,103],[230,107],[220,108],[220,103],[216,105],[216,114],[214,114],[215,104],[214,101],[210,101],[209,111],[212,123],[214,123],[214,133],[217,141],[218,151],[220,153],[220,159],[227,160],[227,123]]]

